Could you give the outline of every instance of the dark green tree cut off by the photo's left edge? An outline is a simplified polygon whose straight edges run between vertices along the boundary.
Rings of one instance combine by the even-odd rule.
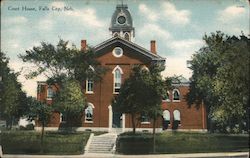
[[[9,59],[0,52],[0,117],[6,120],[6,127],[12,128],[13,121],[24,114],[26,94],[17,81],[18,73],[9,66]]]

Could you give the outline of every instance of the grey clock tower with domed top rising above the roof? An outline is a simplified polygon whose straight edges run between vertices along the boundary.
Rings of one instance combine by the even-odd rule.
[[[133,41],[135,36],[133,20],[126,4],[118,4],[116,6],[109,30],[112,37],[119,36],[128,41]]]

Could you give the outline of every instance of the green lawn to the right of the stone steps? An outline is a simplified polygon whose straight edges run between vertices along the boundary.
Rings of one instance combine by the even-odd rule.
[[[117,143],[121,154],[152,153],[152,134],[122,134]],[[249,151],[248,135],[165,132],[156,135],[156,150],[160,153],[199,153]]]

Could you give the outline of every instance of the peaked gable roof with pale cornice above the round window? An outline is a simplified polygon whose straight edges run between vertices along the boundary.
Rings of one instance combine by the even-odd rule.
[[[106,48],[106,47],[108,47],[108,46],[110,46],[110,45],[112,45],[114,43],[121,43],[121,44],[135,50],[135,53],[142,54],[143,56],[150,58],[152,61],[165,62],[165,58],[163,58],[163,57],[161,57],[161,56],[159,56],[157,54],[154,54],[154,53],[150,52],[149,50],[147,50],[147,49],[145,49],[145,48],[143,48],[143,47],[141,47],[141,46],[139,46],[139,45],[137,45],[137,44],[135,44],[133,42],[125,40],[125,39],[123,39],[121,37],[110,38],[110,39],[96,45],[94,47],[94,50],[98,55],[98,52],[100,50],[102,50],[102,49],[104,49],[104,48]]]

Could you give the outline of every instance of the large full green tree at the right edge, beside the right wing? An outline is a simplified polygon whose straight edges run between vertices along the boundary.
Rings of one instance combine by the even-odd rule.
[[[193,55],[189,104],[206,105],[212,125],[233,132],[247,130],[249,115],[250,39],[222,32],[205,35],[206,45]]]

